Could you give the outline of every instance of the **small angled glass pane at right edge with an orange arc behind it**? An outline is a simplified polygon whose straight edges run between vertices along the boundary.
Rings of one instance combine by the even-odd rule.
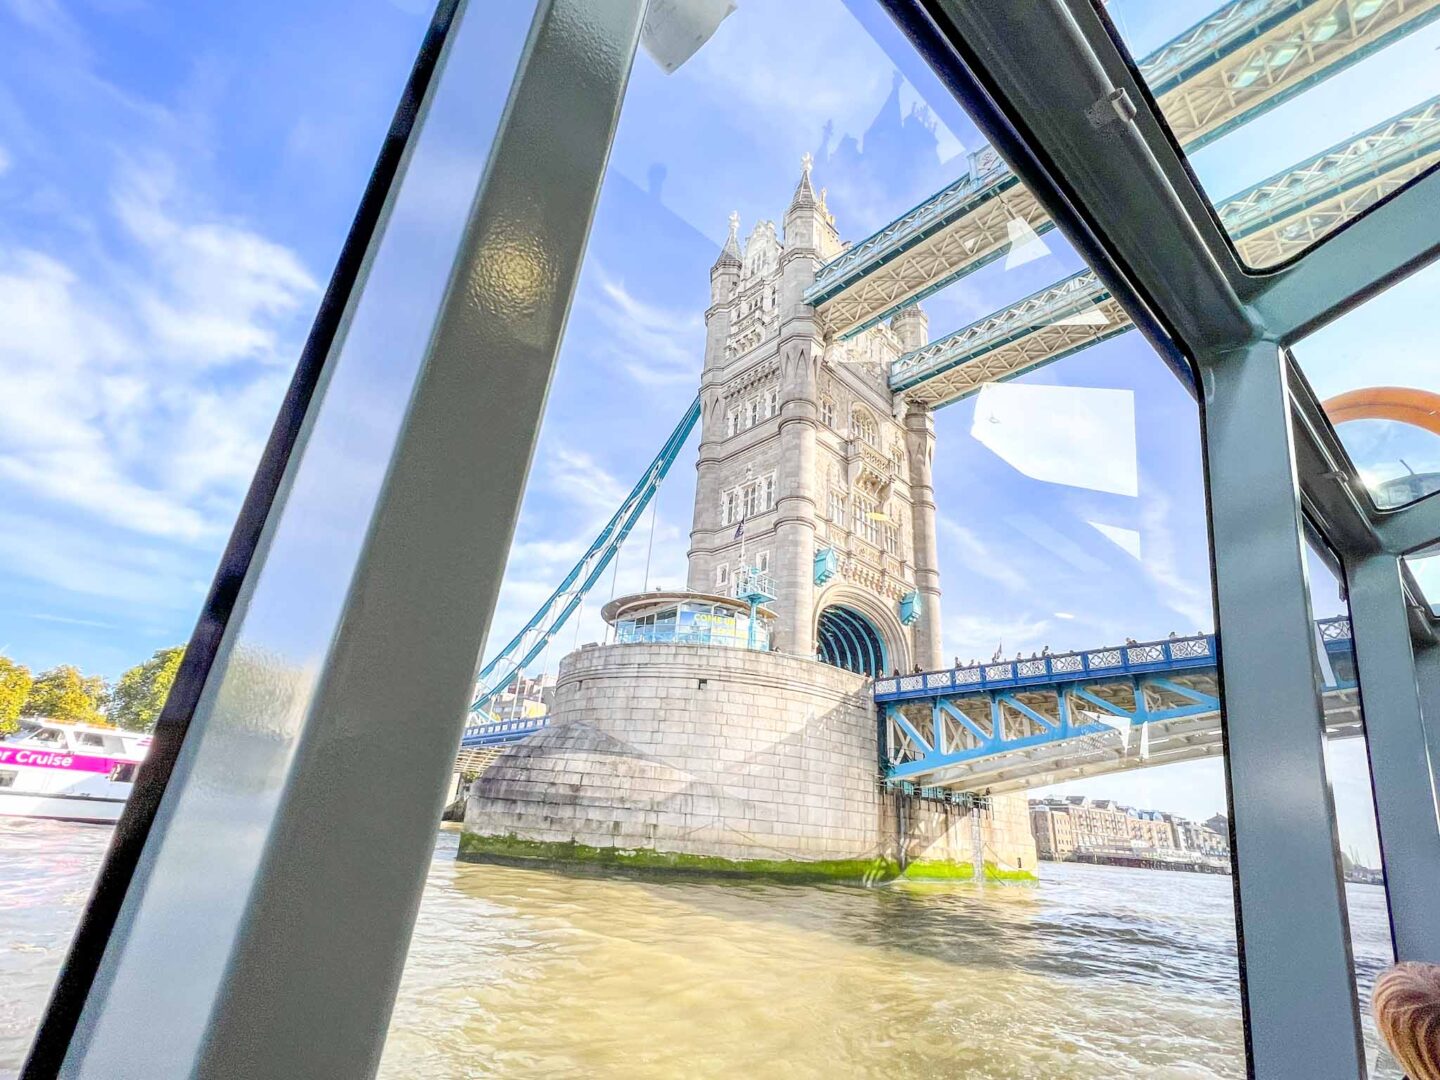
[[[1430,264],[1290,350],[1382,508],[1440,491],[1436,304],[1440,264]]]

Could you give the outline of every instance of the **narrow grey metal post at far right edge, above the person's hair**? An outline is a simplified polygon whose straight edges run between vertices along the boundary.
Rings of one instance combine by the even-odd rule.
[[[1433,960],[1440,956],[1440,818],[1400,560],[1346,560],[1345,579],[1395,956]]]

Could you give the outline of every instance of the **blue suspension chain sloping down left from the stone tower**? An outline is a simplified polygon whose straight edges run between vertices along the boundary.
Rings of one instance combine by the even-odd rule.
[[[690,438],[690,432],[694,431],[698,419],[700,399],[696,397],[690,403],[690,408],[685,409],[685,415],[681,416],[680,423],[670,433],[670,438],[665,439],[665,445],[661,446],[660,454],[655,455],[649,468],[645,469],[629,495],[621,503],[619,510],[615,511],[615,516],[611,517],[599,536],[595,537],[589,550],[580,556],[580,560],[570,569],[570,573],[550,593],[550,598],[540,605],[540,609],[530,616],[530,621],[526,622],[520,632],[511,638],[510,644],[481,668],[480,675],[475,678],[475,696],[469,707],[471,723],[467,724],[461,737],[462,747],[497,746],[516,742],[527,734],[533,734],[543,726],[539,720],[530,719],[500,720],[490,713],[488,707],[500,691],[510,685],[526,667],[534,662],[546,645],[550,644],[552,638],[579,611],[586,595],[600,580],[605,569],[615,560],[621,544],[625,543],[625,537],[629,536],[635,523],[639,521],[649,501],[655,497],[655,491],[670,472],[670,467],[675,464],[675,458],[680,456],[680,451],[685,445],[685,439]],[[524,724],[533,726],[528,730],[523,730]]]

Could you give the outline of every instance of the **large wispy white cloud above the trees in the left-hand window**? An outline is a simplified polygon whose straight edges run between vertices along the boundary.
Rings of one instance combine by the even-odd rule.
[[[215,546],[318,287],[288,249],[184,202],[168,167],[125,166],[112,210],[134,258],[81,272],[0,248],[0,478],[82,528]]]

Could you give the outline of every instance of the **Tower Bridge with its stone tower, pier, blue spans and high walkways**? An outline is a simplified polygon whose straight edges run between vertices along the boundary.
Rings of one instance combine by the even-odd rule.
[[[1440,0],[1236,0],[1142,69],[1197,145],[1437,14]],[[1284,258],[1436,160],[1433,99],[1218,212],[1244,258]],[[464,746],[495,757],[471,791],[462,854],[1027,874],[1021,789],[1218,752],[1212,636],[943,667],[933,410],[1130,323],[1089,272],[937,341],[917,301],[1048,228],[988,148],[852,246],[809,156],[778,222],[742,240],[732,215],[696,402],[480,675]],[[694,431],[685,589],[613,599],[613,639],[562,660],[547,716],[494,716]],[[1326,723],[1356,734],[1348,624],[1318,635]],[[923,798],[935,789],[948,798]]]

